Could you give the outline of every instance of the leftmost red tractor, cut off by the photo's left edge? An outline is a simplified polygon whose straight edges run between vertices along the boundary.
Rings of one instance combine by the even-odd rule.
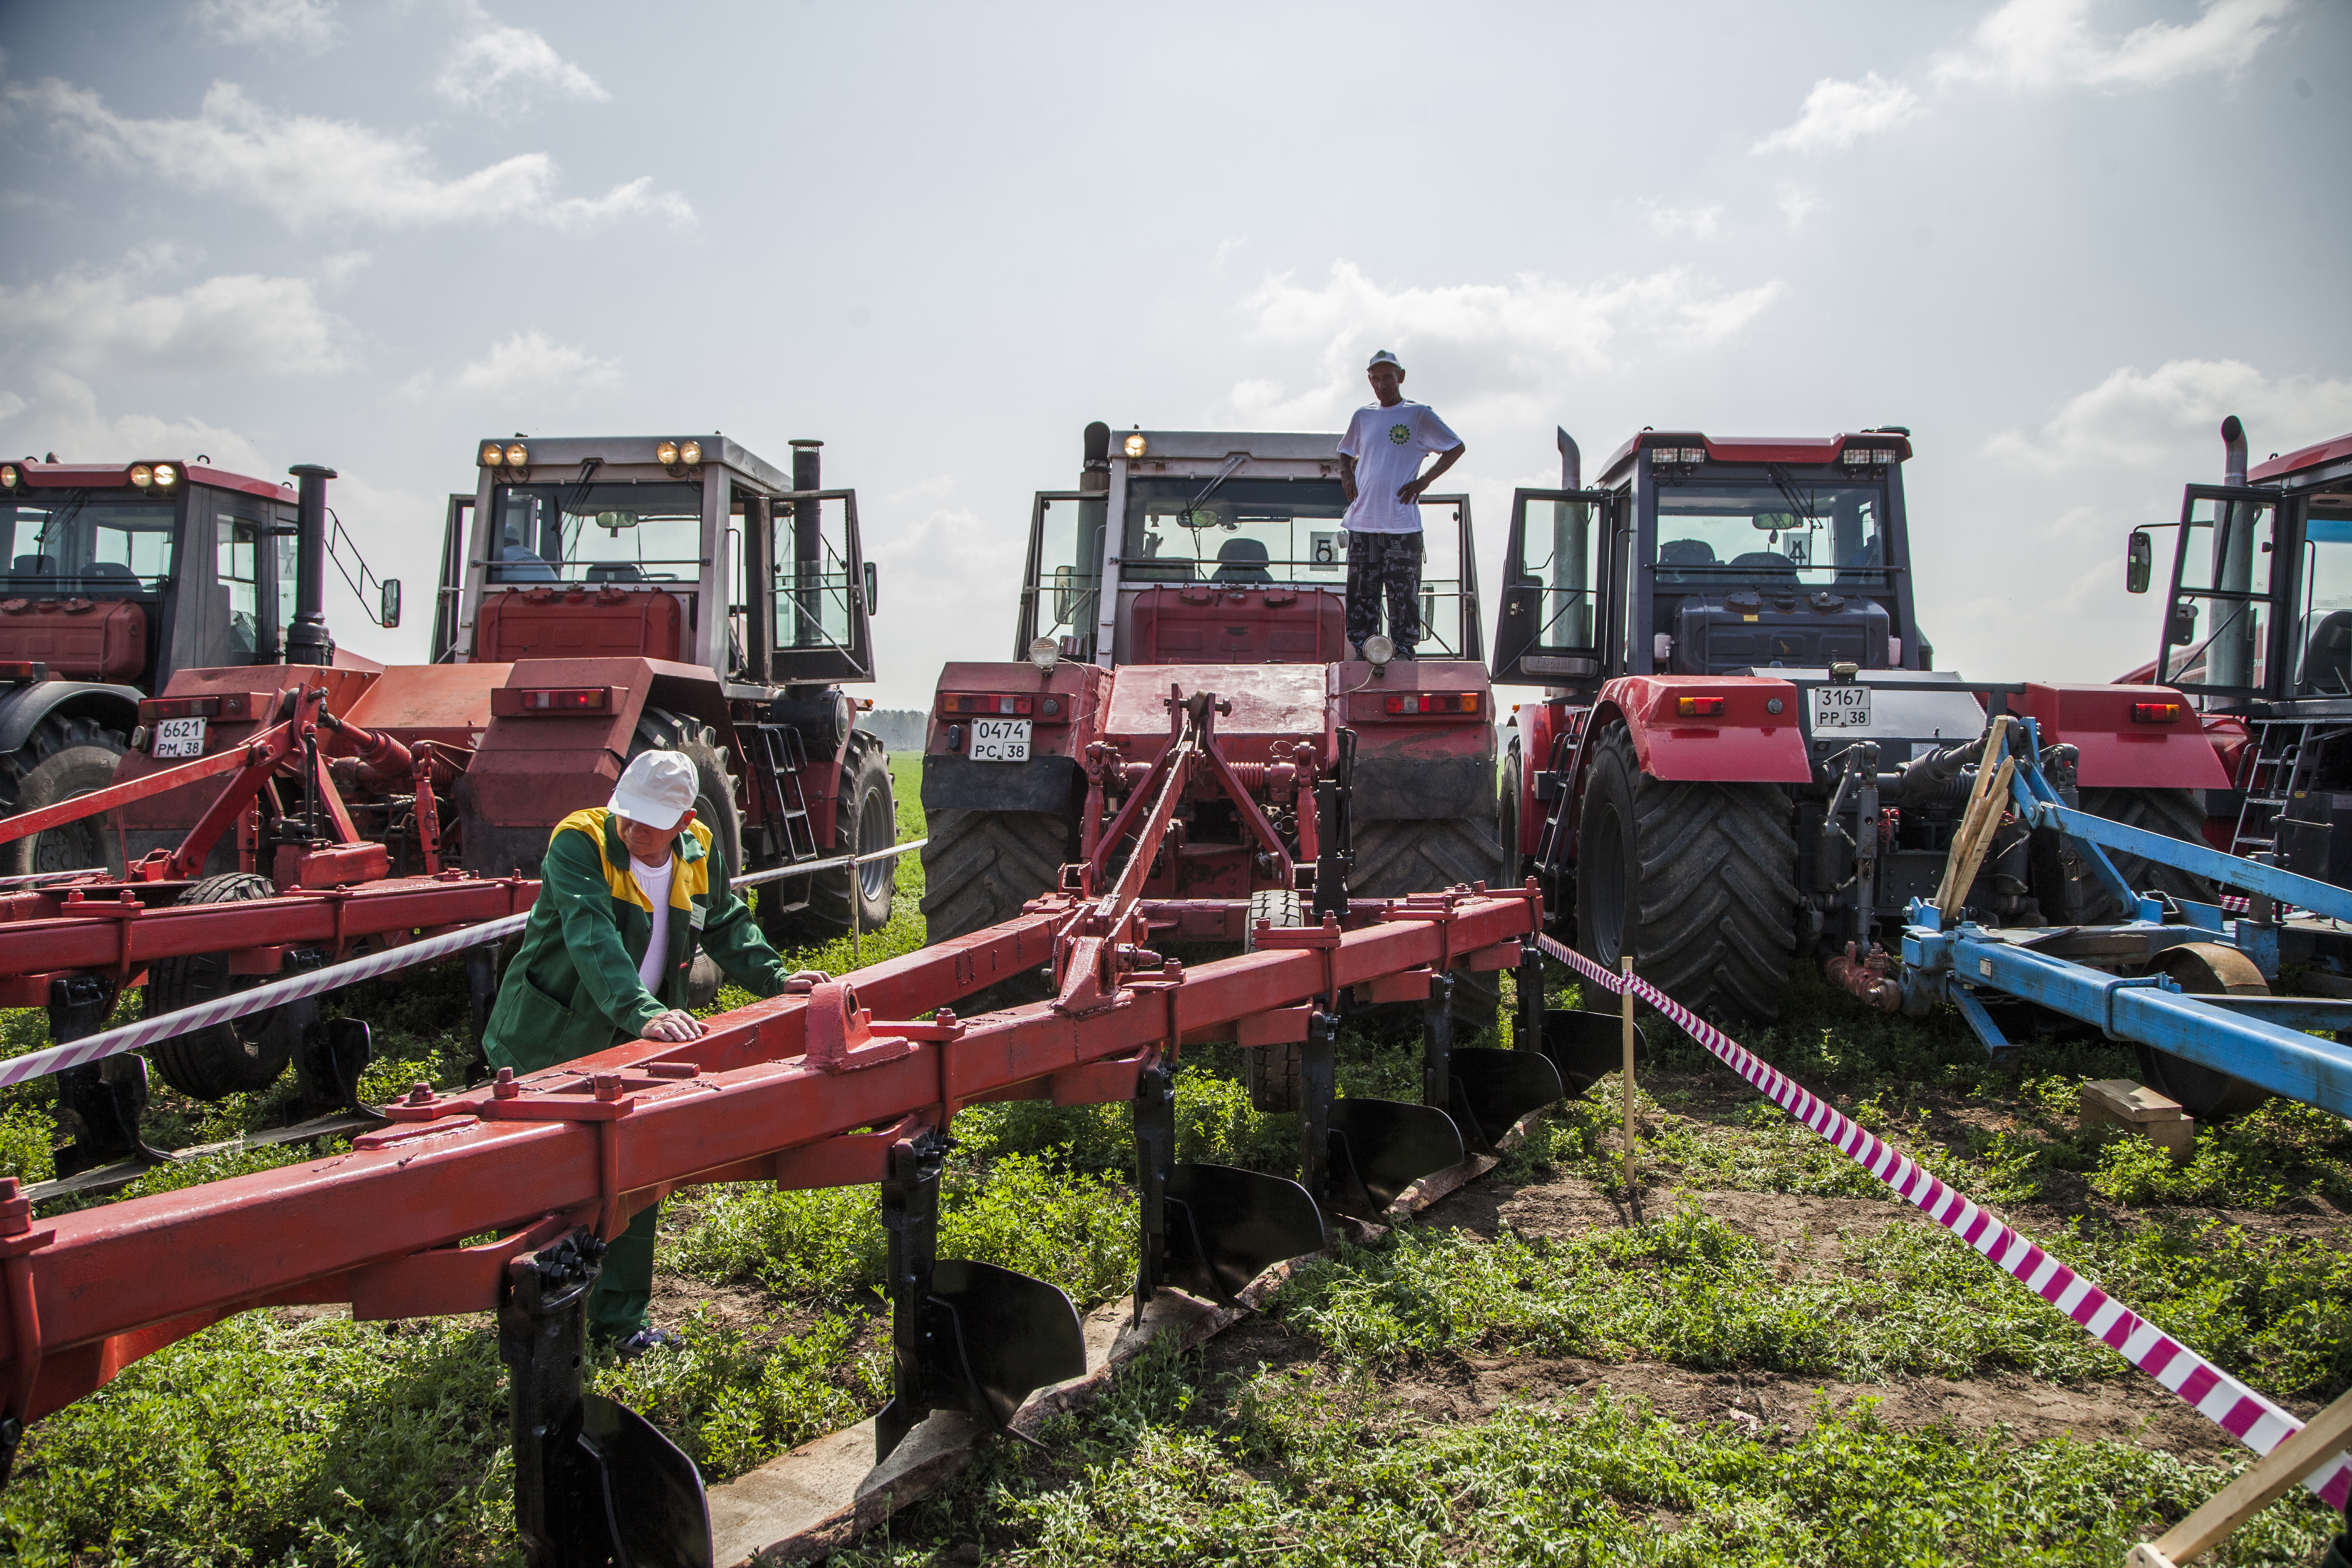
[[[202,456],[0,463],[0,818],[103,788],[176,670],[296,658],[294,555],[289,487]],[[397,581],[379,604],[400,625]],[[122,856],[96,820],[0,846],[0,875],[106,867]]]

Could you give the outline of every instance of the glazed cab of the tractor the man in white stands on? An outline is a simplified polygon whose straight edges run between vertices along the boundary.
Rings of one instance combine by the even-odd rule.
[[[1105,668],[1350,656],[1336,435],[1131,430],[1084,480],[1030,512],[1016,658],[1040,639]],[[1421,515],[1418,656],[1482,658],[1470,498]]]

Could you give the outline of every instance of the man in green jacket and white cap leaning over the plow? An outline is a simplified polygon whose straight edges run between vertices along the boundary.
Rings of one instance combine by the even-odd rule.
[[[522,947],[482,1030],[489,1065],[520,1074],[628,1039],[696,1039],[703,1023],[687,1011],[696,950],[743,990],[781,992],[790,971],[729,870],[694,820],[694,762],[684,752],[633,757],[612,806],[574,811],[548,839]],[[659,1204],[640,1208],[612,1241],[588,1300],[588,1324],[623,1356],[668,1338],[647,1326],[659,1213]]]

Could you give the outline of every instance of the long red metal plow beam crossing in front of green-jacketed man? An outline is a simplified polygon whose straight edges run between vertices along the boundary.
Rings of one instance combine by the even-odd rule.
[[[1070,905],[1037,900],[976,931],[851,976],[868,1011],[913,1016],[1042,966]],[[221,1316],[275,1302],[470,1312],[496,1305],[496,1253],[456,1248],[487,1229],[595,1222],[612,1229],[659,1194],[858,1168],[779,1154],[910,1114],[946,1124],[962,1105],[1044,1081],[1054,1098],[1124,1098],[1134,1074],[1105,1067],[1174,1051],[1183,1034],[1296,1006],[1414,969],[1446,969],[1536,929],[1534,891],[1416,898],[1357,931],[1294,931],[1275,945],[1185,971],[1131,976],[1112,1006],[1082,1018],[1028,1006],[875,1025],[835,1018],[830,1065],[807,1060],[809,994],[713,1020],[689,1044],[635,1041],[461,1095],[390,1107],[400,1121],[353,1152],[33,1225],[0,1204],[0,1265],[12,1309],[0,1326],[0,1389],[31,1385],[14,1410],[40,1415],[122,1366]],[[816,1004],[837,994],[821,987]],[[943,1034],[943,1039],[924,1039]],[[1087,1072],[1073,1072],[1087,1070]],[[844,1150],[844,1157],[849,1150]],[[510,1239],[513,1241],[513,1239]]]

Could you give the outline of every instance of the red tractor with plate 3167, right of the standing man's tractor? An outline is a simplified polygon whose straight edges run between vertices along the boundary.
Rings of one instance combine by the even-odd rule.
[[[2227,778],[2178,691],[1933,670],[1907,430],[1644,430],[1592,489],[1559,447],[1562,489],[1512,498],[1494,679],[1545,686],[1503,766],[1510,877],[1541,877],[1590,959],[1635,954],[1691,1009],[1776,1018],[1799,957],[1867,957],[1936,896],[1997,712],[2034,719],[2070,804],[2199,837],[2197,792]],[[2100,898],[2058,844],[2004,827],[1966,900],[2032,926]]]

